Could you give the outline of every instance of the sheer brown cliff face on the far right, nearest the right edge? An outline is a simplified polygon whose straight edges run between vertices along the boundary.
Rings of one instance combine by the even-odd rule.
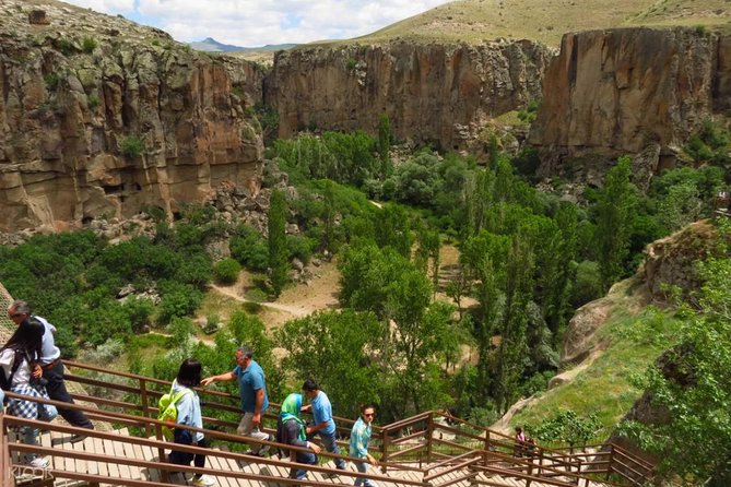
[[[644,164],[672,167],[685,140],[731,105],[731,39],[695,28],[566,34],[542,99],[529,142],[544,175],[655,145]]]

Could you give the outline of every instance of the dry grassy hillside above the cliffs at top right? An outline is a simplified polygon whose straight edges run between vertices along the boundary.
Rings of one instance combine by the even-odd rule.
[[[587,12],[591,12],[587,15]],[[729,26],[726,0],[460,0],[350,40],[482,43],[497,37],[557,46],[567,32],[637,25]]]

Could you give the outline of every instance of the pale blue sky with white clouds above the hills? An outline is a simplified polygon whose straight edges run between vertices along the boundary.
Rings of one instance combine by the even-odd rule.
[[[258,47],[369,34],[448,0],[64,0],[122,14],[176,40]]]

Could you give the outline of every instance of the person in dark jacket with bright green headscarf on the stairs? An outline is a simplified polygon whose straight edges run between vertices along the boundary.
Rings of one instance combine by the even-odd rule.
[[[300,408],[302,394],[292,393],[286,396],[282,403],[280,417],[276,421],[276,442],[313,450],[314,453],[290,450],[290,459],[293,462],[316,465],[317,453],[320,452],[320,447],[307,441],[305,423],[299,418]],[[290,471],[290,478],[303,479],[306,477],[306,470],[293,467]]]

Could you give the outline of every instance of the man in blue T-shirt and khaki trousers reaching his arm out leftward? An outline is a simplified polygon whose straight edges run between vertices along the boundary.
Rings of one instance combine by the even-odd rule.
[[[254,360],[254,352],[247,346],[241,346],[236,351],[236,367],[231,372],[219,376],[207,377],[201,381],[201,385],[208,385],[215,381],[238,380],[238,392],[241,396],[241,412],[244,416],[238,424],[236,431],[245,437],[256,438],[262,441],[274,441],[274,438],[261,431],[261,417],[269,407],[267,397],[267,380],[264,371]],[[263,456],[269,451],[269,446],[251,447],[249,452],[255,456]],[[256,449],[256,450],[255,450]]]

